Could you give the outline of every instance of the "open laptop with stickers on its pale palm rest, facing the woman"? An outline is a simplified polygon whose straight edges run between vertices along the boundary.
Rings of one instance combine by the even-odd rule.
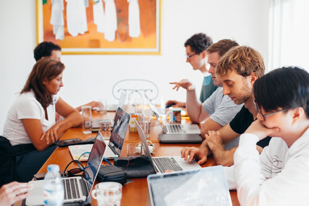
[[[105,149],[104,158],[113,159],[117,158],[121,154],[123,142],[125,141],[125,135],[129,127],[131,115],[118,107],[115,116],[115,124],[112,129],[112,134],[108,142],[108,147]],[[69,146],[70,153],[73,159],[78,159],[83,153],[91,150],[91,144],[87,145],[71,145]],[[84,154],[80,161],[86,161],[88,154]]]

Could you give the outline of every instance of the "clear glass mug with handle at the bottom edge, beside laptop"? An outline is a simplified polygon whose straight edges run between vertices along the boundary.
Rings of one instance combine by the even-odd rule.
[[[116,182],[96,184],[91,196],[97,200],[98,206],[120,206],[122,185]]]

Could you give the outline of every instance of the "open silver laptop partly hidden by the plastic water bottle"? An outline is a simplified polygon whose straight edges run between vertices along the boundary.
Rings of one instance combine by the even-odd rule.
[[[106,145],[98,132],[82,177],[62,178],[64,186],[64,203],[90,201],[90,191],[99,172]],[[30,181],[33,185],[31,194],[26,199],[26,205],[44,205],[44,180]]]

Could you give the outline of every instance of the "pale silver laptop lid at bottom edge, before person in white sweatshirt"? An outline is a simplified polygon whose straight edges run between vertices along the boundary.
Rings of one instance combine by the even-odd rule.
[[[151,174],[147,177],[152,206],[232,206],[223,166],[181,172]]]

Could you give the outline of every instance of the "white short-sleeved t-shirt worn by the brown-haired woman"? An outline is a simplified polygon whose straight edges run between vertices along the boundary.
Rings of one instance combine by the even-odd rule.
[[[11,106],[3,128],[3,137],[6,137],[11,145],[31,143],[22,119],[38,119],[41,121],[43,132],[52,127],[55,123],[56,108],[55,104],[59,95],[53,95],[53,104],[47,108],[48,120],[45,119],[44,108],[35,98],[33,90],[19,95]]]

